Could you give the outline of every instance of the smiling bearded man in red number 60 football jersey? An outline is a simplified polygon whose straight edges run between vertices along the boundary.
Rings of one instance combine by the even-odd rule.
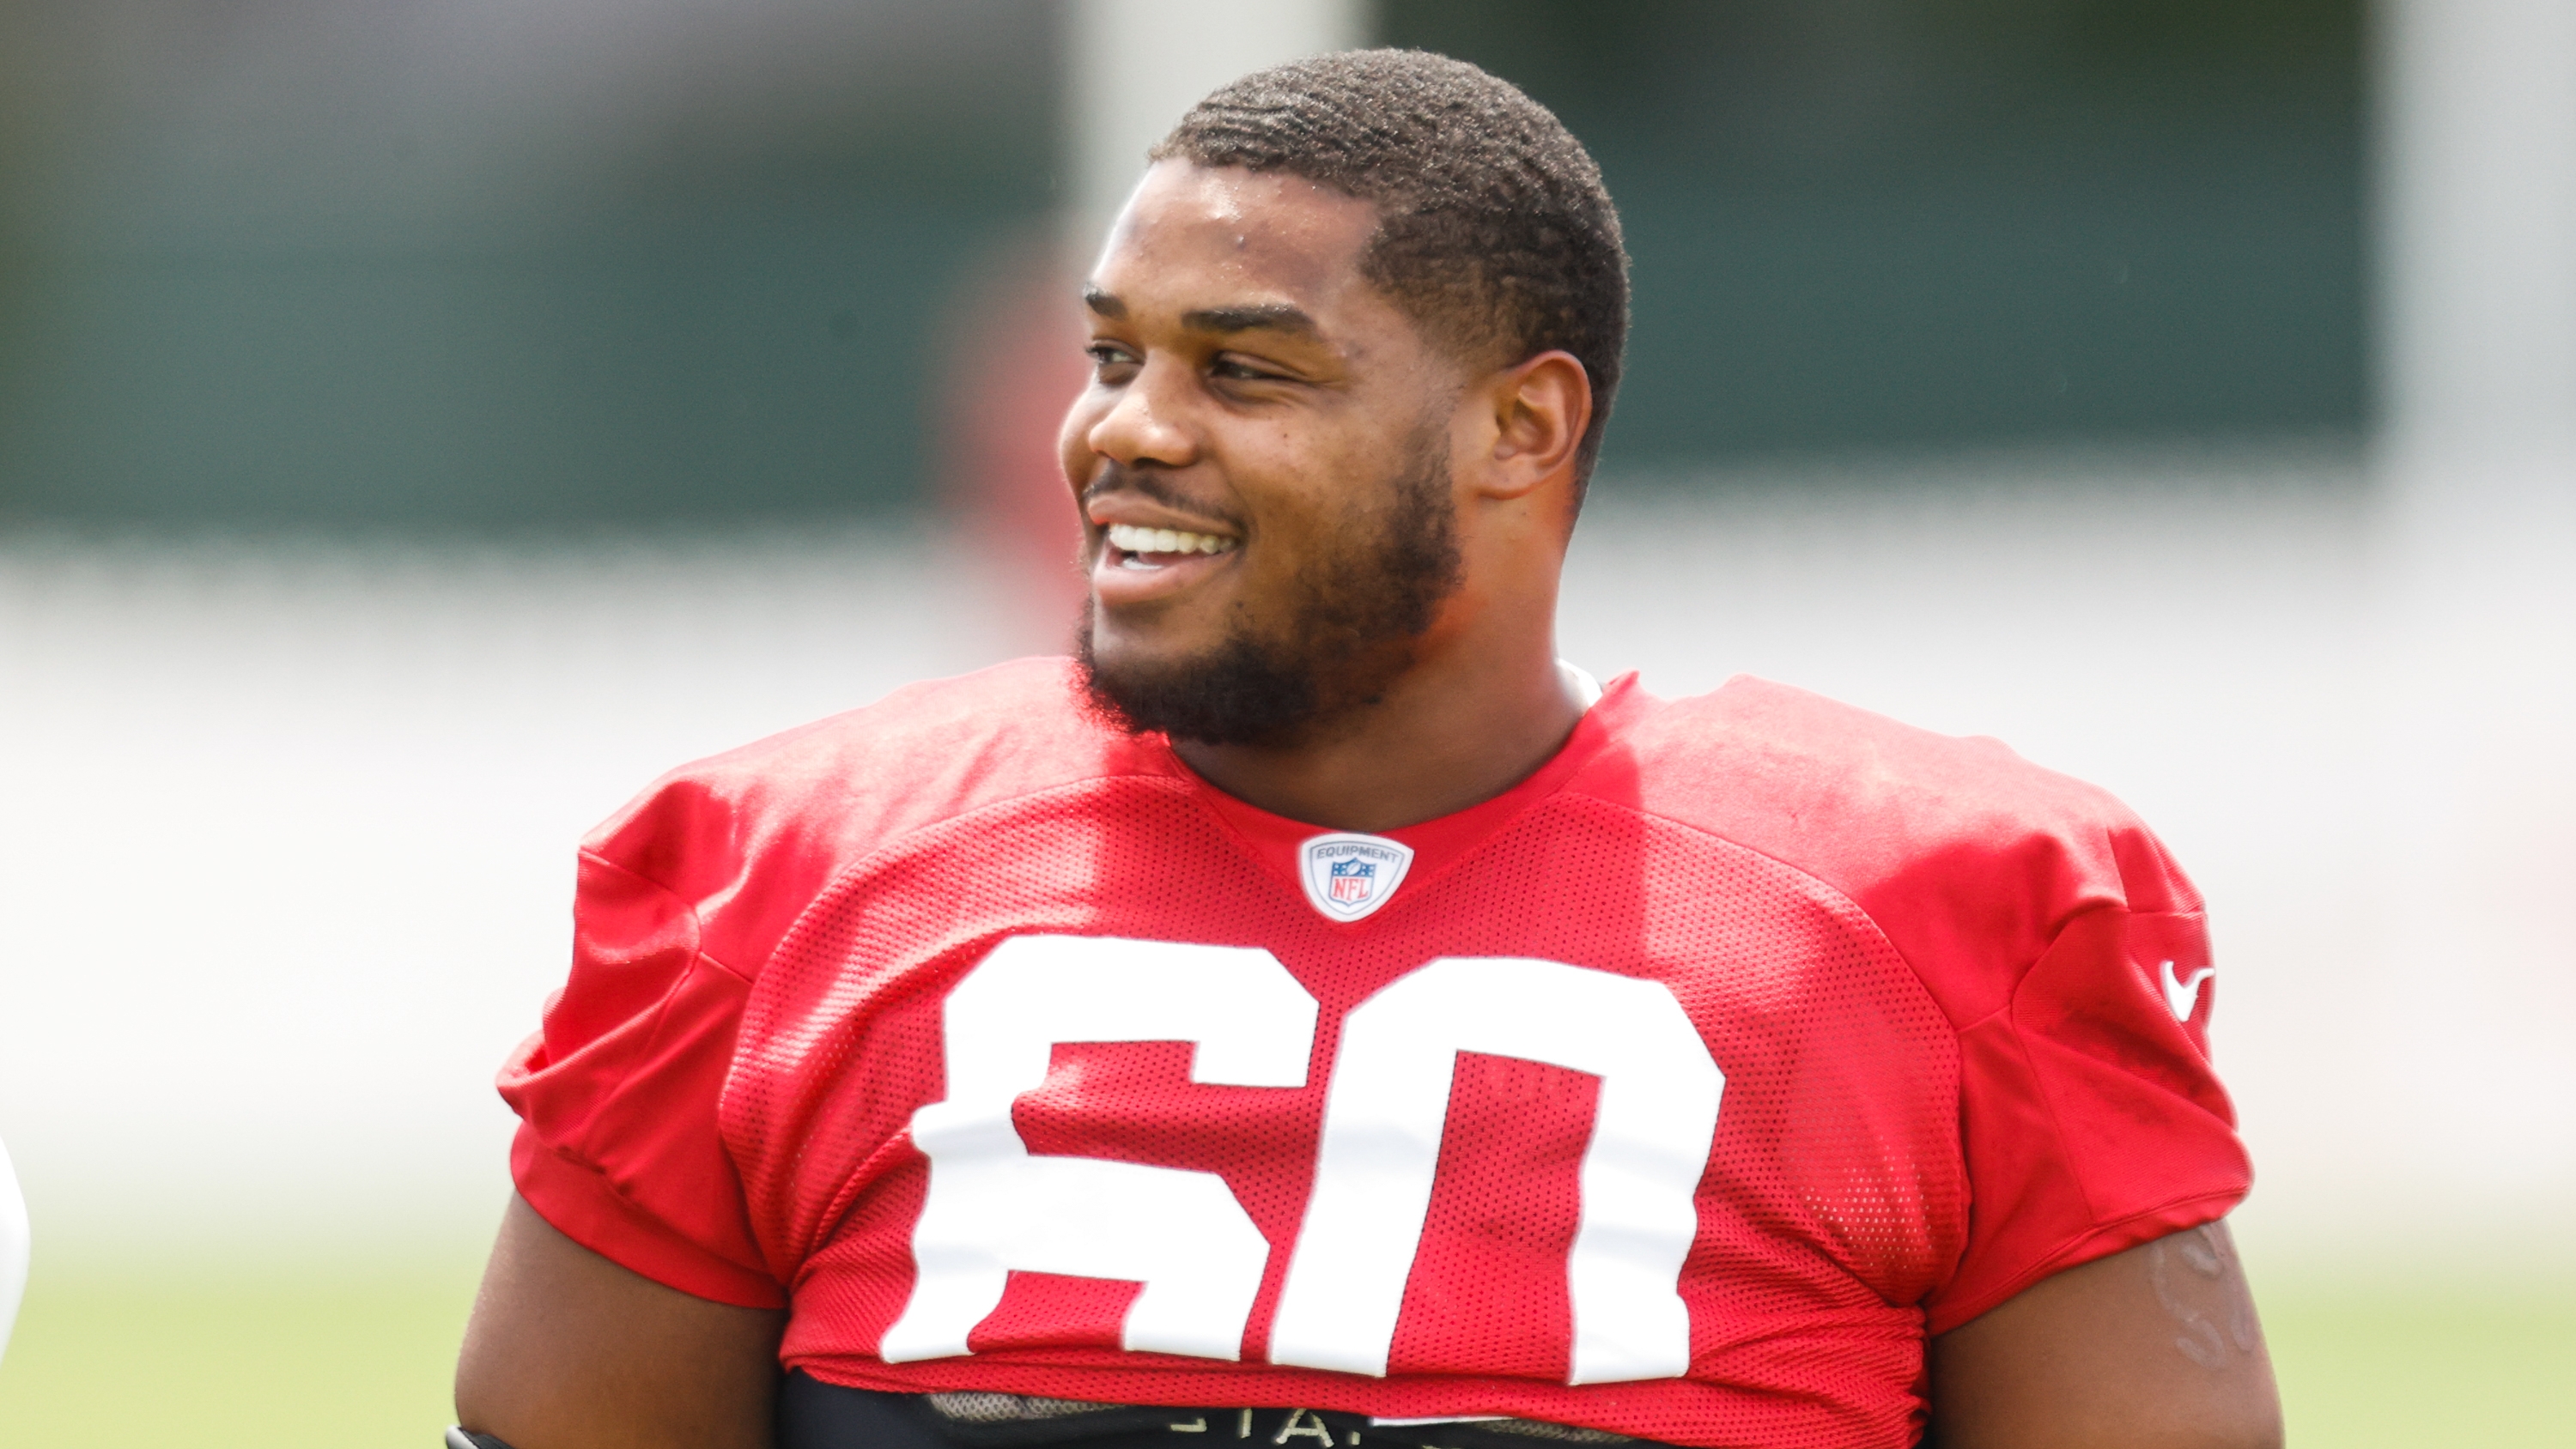
[[[1154,157],[1079,656],[587,842],[456,1439],[2277,1444],[2156,839],[1556,659],[1628,306],[1584,149],[1363,51]]]

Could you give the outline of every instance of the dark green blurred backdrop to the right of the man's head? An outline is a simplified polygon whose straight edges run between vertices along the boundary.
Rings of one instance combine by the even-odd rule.
[[[2352,432],[2349,0],[1391,0],[1595,149],[1613,466]]]

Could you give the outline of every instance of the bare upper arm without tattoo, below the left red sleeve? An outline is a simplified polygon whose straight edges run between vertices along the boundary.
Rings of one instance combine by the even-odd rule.
[[[621,1269],[513,1197],[456,1359],[456,1418],[513,1449],[768,1449],[786,1313]]]

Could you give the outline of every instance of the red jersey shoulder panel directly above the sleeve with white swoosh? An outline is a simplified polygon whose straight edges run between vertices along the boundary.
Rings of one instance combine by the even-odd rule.
[[[1953,1017],[1991,1009],[2079,916],[2200,911],[2128,806],[1994,739],[1736,677],[1646,713],[1631,749],[1638,808],[1832,885]]]

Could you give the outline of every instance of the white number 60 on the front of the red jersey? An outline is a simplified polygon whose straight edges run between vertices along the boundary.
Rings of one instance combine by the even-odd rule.
[[[1128,1349],[1236,1359],[1270,1246],[1216,1174],[1030,1156],[1010,1104],[1056,1042],[1190,1042],[1190,1081],[1303,1086],[1316,1004],[1257,947],[1012,937],[948,993],[948,1099],[912,1117],[930,1194],[886,1361],[966,1354],[1012,1269],[1141,1282]],[[1600,1078],[1566,1256],[1566,1382],[1677,1377],[1677,1282],[1726,1086],[1662,983],[1525,957],[1443,957],[1350,1011],[1273,1364],[1386,1374],[1430,1210],[1458,1053]]]

